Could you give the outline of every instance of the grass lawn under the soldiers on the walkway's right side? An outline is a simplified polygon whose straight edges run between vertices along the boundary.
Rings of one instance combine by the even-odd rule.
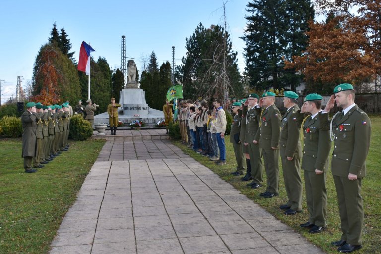
[[[367,176],[363,179],[362,183],[362,196],[364,199],[364,226],[363,226],[363,248],[357,251],[357,254],[375,254],[381,253],[381,117],[371,117],[372,121],[372,136],[369,155],[367,157]],[[208,158],[193,152],[191,149],[181,145],[179,141],[174,143],[181,147],[184,152],[190,154],[197,161],[212,169],[222,179],[232,184],[236,189],[240,190],[248,198],[252,199],[255,203],[266,209],[273,214],[276,218],[292,227],[295,231],[305,236],[308,241],[317,245],[322,250],[329,254],[338,253],[336,248],[330,245],[332,241],[340,240],[340,216],[337,204],[337,196],[335,185],[333,182],[332,174],[327,174],[327,225],[328,228],[319,234],[309,234],[308,230],[299,227],[299,224],[308,220],[308,212],[306,206],[306,196],[303,193],[303,213],[299,213],[293,216],[286,216],[279,209],[279,205],[287,202],[287,195],[284,189],[283,174],[281,169],[281,162],[279,160],[279,196],[274,198],[262,198],[259,197],[259,193],[265,191],[265,185],[267,183],[266,174],[263,176],[264,186],[257,189],[249,189],[246,184],[249,182],[242,182],[240,177],[235,177],[230,173],[235,171],[237,166],[234,156],[232,144],[229,143],[229,136],[225,137],[226,142],[226,161],[227,164],[223,166],[217,166],[215,163],[210,162]],[[303,172],[302,172],[302,181]],[[304,191],[304,190],[303,190]],[[253,218],[255,219],[255,218]]]

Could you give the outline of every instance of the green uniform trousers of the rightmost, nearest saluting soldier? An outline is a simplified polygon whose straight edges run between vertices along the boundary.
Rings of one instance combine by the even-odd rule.
[[[341,240],[351,245],[362,244],[364,209],[361,192],[362,179],[333,176],[341,220]]]

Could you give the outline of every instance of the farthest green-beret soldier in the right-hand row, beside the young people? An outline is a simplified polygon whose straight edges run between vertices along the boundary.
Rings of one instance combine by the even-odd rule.
[[[234,102],[232,106],[233,106],[234,118],[232,121],[232,127],[230,129],[230,143],[233,144],[233,150],[234,150],[234,154],[236,156],[236,162],[237,162],[236,171],[232,172],[232,174],[239,176],[239,175],[242,175],[242,172],[245,170],[245,167],[244,167],[245,157],[242,152],[242,144],[240,141],[241,118],[242,118],[242,111],[240,110],[241,103]]]

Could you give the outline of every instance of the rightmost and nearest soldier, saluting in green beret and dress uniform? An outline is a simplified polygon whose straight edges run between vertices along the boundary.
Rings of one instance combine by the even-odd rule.
[[[334,141],[331,170],[335,182],[341,219],[341,239],[332,242],[339,252],[349,253],[362,247],[364,221],[362,179],[366,175],[365,160],[371,138],[371,121],[368,115],[355,104],[355,91],[351,84],[340,84],[333,90],[320,124],[330,129]],[[330,125],[328,113],[334,107],[343,108]],[[330,128],[330,126],[332,128]]]

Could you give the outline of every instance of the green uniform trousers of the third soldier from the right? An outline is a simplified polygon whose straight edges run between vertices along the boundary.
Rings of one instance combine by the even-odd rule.
[[[281,157],[283,180],[288,197],[287,205],[294,211],[302,210],[302,179],[300,177],[300,159],[287,160]]]

